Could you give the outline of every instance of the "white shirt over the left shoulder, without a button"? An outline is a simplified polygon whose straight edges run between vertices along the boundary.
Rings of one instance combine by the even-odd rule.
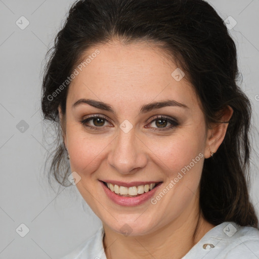
[[[89,239],[78,245],[69,254],[63,256],[61,259],[103,259],[105,258],[103,248],[103,227],[100,227],[97,232]]]

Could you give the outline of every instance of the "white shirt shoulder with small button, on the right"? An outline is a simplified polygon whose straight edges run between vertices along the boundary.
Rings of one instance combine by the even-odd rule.
[[[207,259],[259,258],[259,230],[223,222],[208,231],[183,257]]]

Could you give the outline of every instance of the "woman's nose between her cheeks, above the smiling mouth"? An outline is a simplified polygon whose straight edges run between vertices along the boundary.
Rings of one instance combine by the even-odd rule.
[[[111,145],[108,164],[120,174],[134,174],[137,168],[143,168],[147,164],[146,146],[135,135],[134,128],[128,133],[119,129],[118,136]]]

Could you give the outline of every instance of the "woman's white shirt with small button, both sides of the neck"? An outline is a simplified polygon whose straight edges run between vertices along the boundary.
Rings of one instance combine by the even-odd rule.
[[[107,259],[104,229],[61,259]],[[209,230],[182,259],[259,259],[259,230],[224,222]]]

